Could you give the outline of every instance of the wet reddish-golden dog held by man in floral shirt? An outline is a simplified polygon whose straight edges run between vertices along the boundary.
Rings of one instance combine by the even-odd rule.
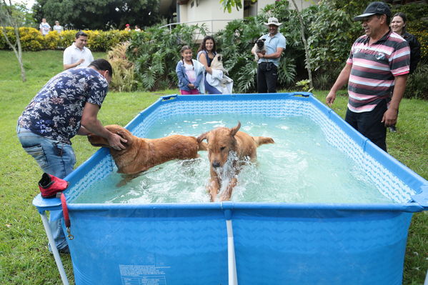
[[[96,134],[89,134],[93,146],[106,146],[121,174],[139,174],[158,164],[173,159],[195,159],[199,150],[206,150],[206,144],[199,143],[194,136],[172,135],[161,139],[142,139],[127,129],[108,125],[106,129],[126,139],[126,149],[120,151],[109,146],[109,142]]]

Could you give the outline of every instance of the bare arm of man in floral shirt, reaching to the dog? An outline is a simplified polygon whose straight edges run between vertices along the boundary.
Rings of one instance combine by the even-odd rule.
[[[108,129],[104,128],[99,119],[96,116],[99,111],[99,106],[86,102],[83,114],[81,115],[81,126],[83,129],[79,129],[80,134],[84,134],[86,131],[90,131],[93,134],[102,136],[109,141],[109,145],[118,151],[125,149],[126,147],[122,143],[126,143],[126,139],[123,139],[118,134],[111,133]]]

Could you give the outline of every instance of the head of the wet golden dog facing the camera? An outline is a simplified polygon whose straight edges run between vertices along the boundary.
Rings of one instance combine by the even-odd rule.
[[[241,123],[232,129],[220,127],[212,131],[207,131],[198,137],[198,143],[206,139],[208,144],[208,159],[211,167],[222,167],[226,164],[230,151],[237,150],[237,139],[235,135],[239,131]]]

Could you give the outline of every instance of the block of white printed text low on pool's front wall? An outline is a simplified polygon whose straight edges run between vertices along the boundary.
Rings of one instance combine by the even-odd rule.
[[[119,264],[122,285],[166,285],[164,269],[170,267]]]

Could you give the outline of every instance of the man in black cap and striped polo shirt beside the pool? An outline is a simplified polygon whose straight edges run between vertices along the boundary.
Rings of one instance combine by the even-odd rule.
[[[391,11],[384,2],[372,2],[361,21],[365,35],[354,42],[347,64],[326,97],[330,106],[336,92],[348,84],[345,116],[354,129],[387,151],[387,126],[397,121],[399,103],[409,74],[409,44],[389,29]]]

